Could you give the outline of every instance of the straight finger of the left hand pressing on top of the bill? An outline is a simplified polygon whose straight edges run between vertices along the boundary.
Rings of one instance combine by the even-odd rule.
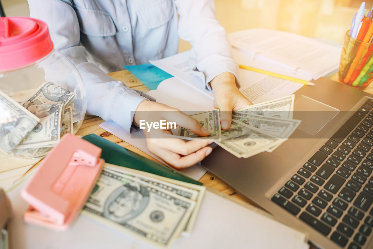
[[[180,125],[181,127],[184,127],[186,129],[189,129],[192,131],[192,133],[197,134],[199,136],[209,136],[210,132],[204,128],[200,122],[198,122],[196,119],[189,117],[185,113],[182,113],[181,111],[171,111],[171,112],[165,112],[164,113],[167,120],[175,121],[176,124]]]

